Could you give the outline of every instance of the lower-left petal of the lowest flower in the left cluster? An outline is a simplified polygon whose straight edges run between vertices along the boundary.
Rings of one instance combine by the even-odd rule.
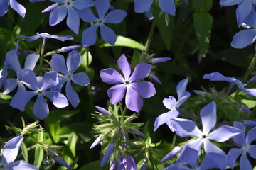
[[[33,98],[33,96],[36,96],[35,91],[18,91],[11,99],[10,106],[24,111],[26,104]]]

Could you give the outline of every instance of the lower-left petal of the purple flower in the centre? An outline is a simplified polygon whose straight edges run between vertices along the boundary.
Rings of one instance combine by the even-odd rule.
[[[126,89],[127,88],[124,84],[115,85],[108,89],[107,96],[110,98],[110,103],[117,104],[122,101]]]

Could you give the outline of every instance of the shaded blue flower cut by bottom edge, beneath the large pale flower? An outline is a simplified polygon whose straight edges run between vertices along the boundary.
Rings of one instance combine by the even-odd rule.
[[[206,170],[206,169],[226,169],[227,163],[225,156],[223,154],[216,154],[210,152],[206,154],[203,161],[198,165],[198,150],[188,147],[186,149],[186,154],[183,154],[182,157],[176,161],[176,164],[171,164],[164,170]],[[183,164],[188,164],[191,166],[183,166]]]

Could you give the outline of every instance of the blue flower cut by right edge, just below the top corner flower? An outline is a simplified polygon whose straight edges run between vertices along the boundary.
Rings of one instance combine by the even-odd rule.
[[[231,46],[234,48],[244,48],[251,45],[256,40],[256,11],[252,10],[249,16],[245,19],[243,25],[245,30],[240,30],[233,37]]]

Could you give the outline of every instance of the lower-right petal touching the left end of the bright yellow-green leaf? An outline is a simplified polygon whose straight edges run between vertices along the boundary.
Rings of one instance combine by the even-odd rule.
[[[100,35],[105,42],[109,43],[110,45],[114,45],[117,41],[117,35],[114,33],[114,30],[102,24],[100,26]]]

